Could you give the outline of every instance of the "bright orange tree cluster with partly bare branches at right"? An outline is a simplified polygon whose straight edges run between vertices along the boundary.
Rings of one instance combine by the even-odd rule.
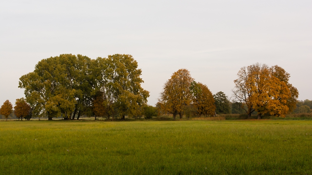
[[[290,74],[275,65],[253,64],[242,67],[234,80],[234,102],[251,116],[253,111],[261,115],[285,116],[296,107],[298,90],[289,83]],[[245,107],[246,106],[246,107]]]

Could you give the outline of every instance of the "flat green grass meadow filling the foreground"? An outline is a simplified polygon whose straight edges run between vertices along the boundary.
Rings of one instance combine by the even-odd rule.
[[[312,121],[1,121],[1,174],[312,174]]]

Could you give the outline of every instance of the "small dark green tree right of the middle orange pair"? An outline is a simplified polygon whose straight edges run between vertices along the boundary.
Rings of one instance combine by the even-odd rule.
[[[213,95],[216,105],[216,113],[217,114],[229,114],[231,111],[230,101],[228,100],[225,93],[222,91],[217,92]]]

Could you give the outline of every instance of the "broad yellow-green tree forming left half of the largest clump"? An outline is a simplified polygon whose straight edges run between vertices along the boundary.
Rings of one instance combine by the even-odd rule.
[[[79,54],[61,54],[42,59],[33,72],[23,75],[19,87],[25,89],[33,114],[39,118],[48,116],[49,120],[64,114],[64,119],[70,119],[78,107],[90,104],[90,100],[86,100],[91,89],[86,76],[89,62],[88,57]]]

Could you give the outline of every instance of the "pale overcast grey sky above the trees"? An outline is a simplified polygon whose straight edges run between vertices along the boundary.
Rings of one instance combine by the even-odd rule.
[[[239,69],[257,62],[284,68],[311,100],[312,1],[0,1],[1,104],[24,97],[19,78],[60,54],[131,54],[150,105],[178,69],[231,97]]]

